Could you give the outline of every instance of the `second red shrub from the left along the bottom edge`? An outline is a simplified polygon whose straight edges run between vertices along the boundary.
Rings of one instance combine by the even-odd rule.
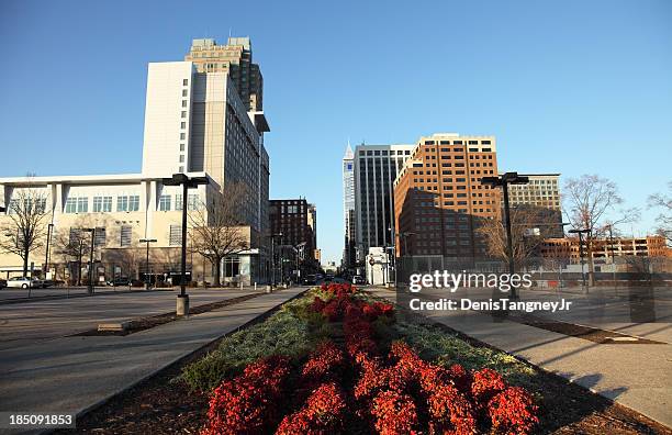
[[[287,415],[276,434],[325,434],[343,431],[346,403],[335,383],[324,383],[307,398],[298,412]]]

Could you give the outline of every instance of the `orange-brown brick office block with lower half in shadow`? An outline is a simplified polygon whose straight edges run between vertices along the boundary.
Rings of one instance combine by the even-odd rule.
[[[421,137],[394,182],[397,255],[485,257],[477,230],[500,216],[500,194],[481,178],[496,174],[494,136]]]

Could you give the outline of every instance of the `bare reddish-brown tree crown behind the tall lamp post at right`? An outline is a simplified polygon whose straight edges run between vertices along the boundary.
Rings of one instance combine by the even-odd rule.
[[[528,258],[538,254],[544,239],[557,232],[560,223],[547,209],[519,205],[511,209],[511,231],[514,263],[523,266]],[[508,261],[506,228],[499,219],[484,220],[477,230],[488,246],[488,254]]]

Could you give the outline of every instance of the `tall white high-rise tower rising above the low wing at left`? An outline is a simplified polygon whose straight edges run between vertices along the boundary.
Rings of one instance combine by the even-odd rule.
[[[194,44],[199,41],[212,40]],[[203,171],[220,186],[242,182],[248,192],[245,223],[262,234],[268,222],[268,123],[264,112],[248,111],[232,70],[199,72],[200,67],[192,62],[149,64],[143,175]]]

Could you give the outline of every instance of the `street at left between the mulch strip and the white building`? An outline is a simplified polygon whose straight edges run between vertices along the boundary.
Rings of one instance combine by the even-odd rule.
[[[77,291],[86,292],[86,289]],[[190,289],[189,295],[191,306],[198,306],[254,291],[250,288]],[[103,322],[171,312],[175,311],[178,292],[179,290],[138,291],[0,304],[0,350],[72,335],[96,328]]]

